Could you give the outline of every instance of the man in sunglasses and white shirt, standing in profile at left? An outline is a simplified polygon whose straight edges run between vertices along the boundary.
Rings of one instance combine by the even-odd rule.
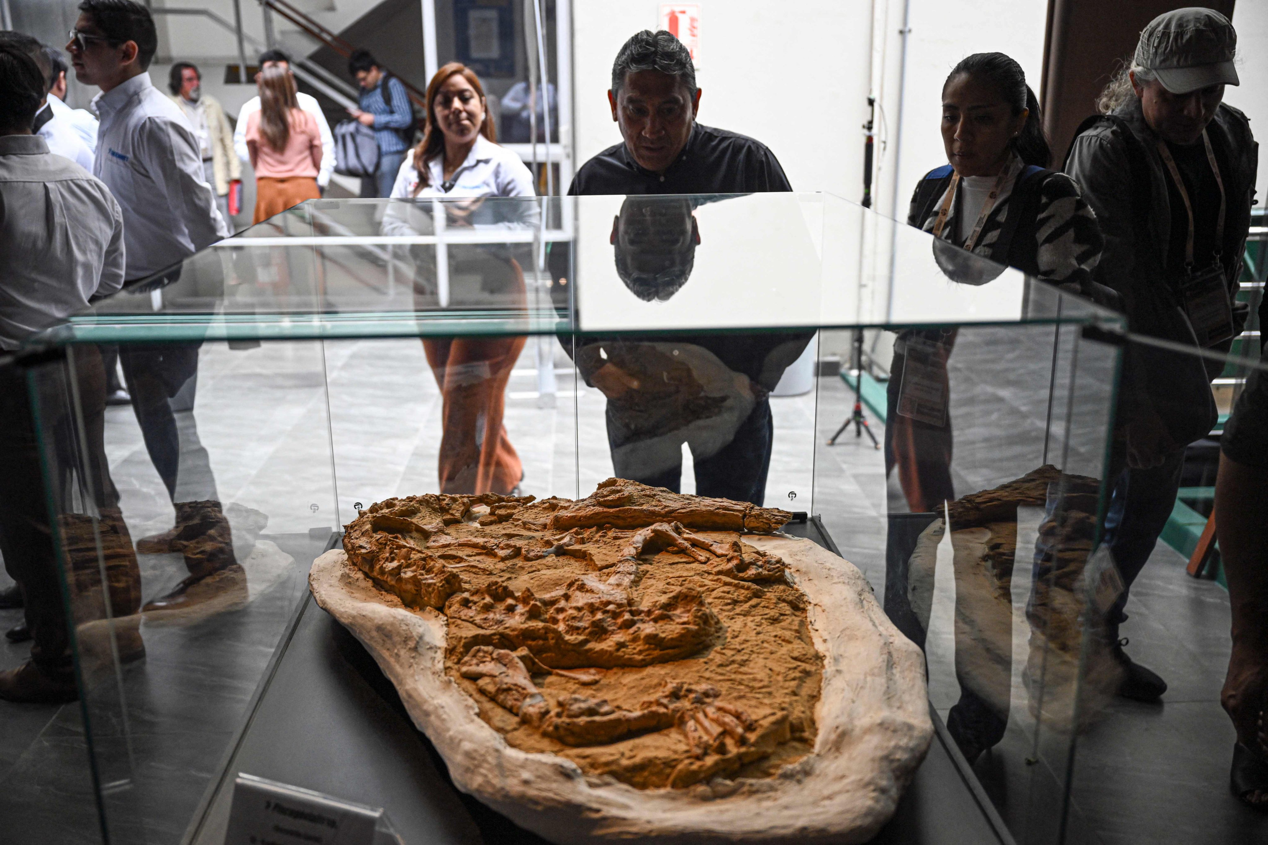
[[[98,85],[101,115],[96,175],[127,215],[129,281],[167,270],[156,288],[179,276],[194,252],[230,234],[203,176],[198,138],[189,120],[153,86],[146,68],[158,47],[150,10],[132,0],[84,0],[71,42],[75,76]],[[233,557],[228,521],[221,511],[207,450],[189,419],[183,432],[169,399],[198,374],[199,343],[120,345],[119,360],[132,394],[132,409],[150,460],[167,488],[178,519],[172,531],[137,541],[143,554],[185,554],[190,576],[142,609],[178,611],[217,598],[222,587],[245,593],[242,568]],[[195,383],[197,384],[197,383]]]

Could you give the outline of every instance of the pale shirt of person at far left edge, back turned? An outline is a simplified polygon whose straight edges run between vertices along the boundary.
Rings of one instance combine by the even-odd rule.
[[[123,285],[123,213],[39,136],[0,137],[0,348]]]

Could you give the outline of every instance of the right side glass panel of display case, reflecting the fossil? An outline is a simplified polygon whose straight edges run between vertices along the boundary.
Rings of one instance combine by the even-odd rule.
[[[877,379],[856,362],[880,338],[822,336],[846,369],[817,380],[815,511],[924,649],[1004,823],[1060,841],[1117,348],[1068,324],[905,329]]]

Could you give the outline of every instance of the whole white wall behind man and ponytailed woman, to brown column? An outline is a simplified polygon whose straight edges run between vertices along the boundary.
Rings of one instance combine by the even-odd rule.
[[[657,28],[658,11],[653,0],[576,0],[578,163],[620,141],[606,99],[611,63],[626,38]],[[883,94],[877,137],[885,143],[874,193],[876,208],[889,213],[895,199],[904,0],[806,0],[795,6],[702,3],[700,122],[766,143],[794,189],[832,191],[857,201],[874,11],[877,67],[884,68],[876,80]],[[947,72],[970,53],[998,49],[1016,58],[1037,89],[1046,11],[1047,0],[910,0],[898,217],[905,215],[915,181],[946,163],[938,118]]]

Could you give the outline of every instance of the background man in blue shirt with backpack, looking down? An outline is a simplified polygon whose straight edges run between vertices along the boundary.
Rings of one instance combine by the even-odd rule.
[[[353,117],[374,129],[379,142],[379,168],[361,180],[361,196],[391,196],[397,171],[406,151],[413,144],[413,106],[410,95],[394,76],[389,76],[366,49],[347,60],[347,72],[361,86],[360,110]]]

